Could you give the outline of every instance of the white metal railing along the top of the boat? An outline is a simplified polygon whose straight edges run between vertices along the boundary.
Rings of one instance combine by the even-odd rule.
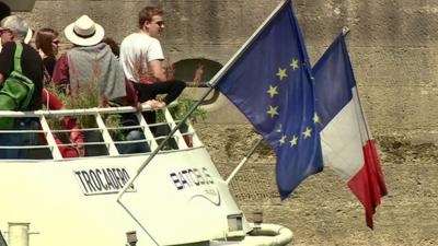
[[[3,151],[24,151],[26,156],[20,159],[54,159],[62,160],[60,149],[62,148],[84,148],[84,156],[119,156],[129,154],[145,154],[155,150],[161,141],[165,139],[168,133],[180,122],[175,120],[169,108],[175,106],[172,103],[168,107],[152,109],[143,106],[142,112],[137,112],[134,107],[96,107],[87,109],[61,109],[61,110],[35,110],[35,112],[8,112],[0,110],[0,117],[14,118],[15,120],[33,120],[38,125],[35,129],[1,129],[0,128],[0,152]],[[154,124],[148,124],[143,117],[143,112],[155,110],[161,117]],[[111,115],[120,116],[123,114],[131,114],[136,119],[136,124],[123,125],[108,124],[106,119]],[[66,129],[60,127],[60,120],[64,118],[74,118],[80,121],[83,117],[89,117],[94,121],[91,127],[80,127],[79,129]],[[21,118],[21,119],[20,119]],[[23,119],[25,118],[25,119]],[[58,127],[56,127],[58,126]],[[200,147],[201,143],[194,131],[192,125],[187,120],[184,127],[180,127],[168,143],[160,150],[181,151],[191,148]],[[69,139],[71,132],[80,132],[83,136],[83,142],[74,142]],[[137,136],[141,138],[126,139],[126,134],[137,131]],[[13,143],[2,141],[4,136],[33,136],[28,144],[14,145]],[[64,141],[62,140],[64,137]],[[137,144],[137,145],[136,145]],[[126,152],[124,147],[132,145],[142,150],[141,152]],[[138,149],[138,148],[137,148]],[[1,156],[1,153],[0,153]]]

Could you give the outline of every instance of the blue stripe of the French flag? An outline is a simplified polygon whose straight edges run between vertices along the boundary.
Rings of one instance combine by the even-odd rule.
[[[313,67],[318,114],[323,129],[353,99],[356,86],[344,35],[339,35]]]

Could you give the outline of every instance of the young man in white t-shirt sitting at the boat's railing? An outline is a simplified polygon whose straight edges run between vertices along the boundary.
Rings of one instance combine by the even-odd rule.
[[[134,84],[141,103],[163,107],[174,101],[185,87],[182,81],[168,81],[163,71],[163,50],[157,39],[164,30],[163,11],[146,7],[138,14],[140,32],[127,36],[120,45],[120,62],[126,78]],[[158,94],[166,94],[163,101],[155,101]],[[155,121],[155,115],[146,114],[148,122]]]

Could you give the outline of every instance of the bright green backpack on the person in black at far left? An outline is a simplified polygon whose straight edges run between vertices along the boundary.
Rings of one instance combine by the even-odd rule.
[[[15,43],[14,70],[0,90],[0,110],[26,109],[34,94],[35,84],[21,70],[22,51],[23,45]],[[0,128],[10,129],[13,125],[13,118],[0,117]]]

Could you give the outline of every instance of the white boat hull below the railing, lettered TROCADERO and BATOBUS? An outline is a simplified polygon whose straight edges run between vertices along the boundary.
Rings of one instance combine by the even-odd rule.
[[[128,231],[137,232],[139,246],[223,237],[229,231],[227,215],[241,211],[204,148],[159,154],[120,203],[115,192],[90,192],[126,184],[123,172],[132,177],[146,157],[2,163],[0,229],[8,231],[8,222],[31,223],[31,233],[38,233],[31,235],[32,246],[120,246]],[[85,178],[78,172],[92,177],[93,171],[101,171],[100,178],[82,180],[83,185],[80,179]]]

